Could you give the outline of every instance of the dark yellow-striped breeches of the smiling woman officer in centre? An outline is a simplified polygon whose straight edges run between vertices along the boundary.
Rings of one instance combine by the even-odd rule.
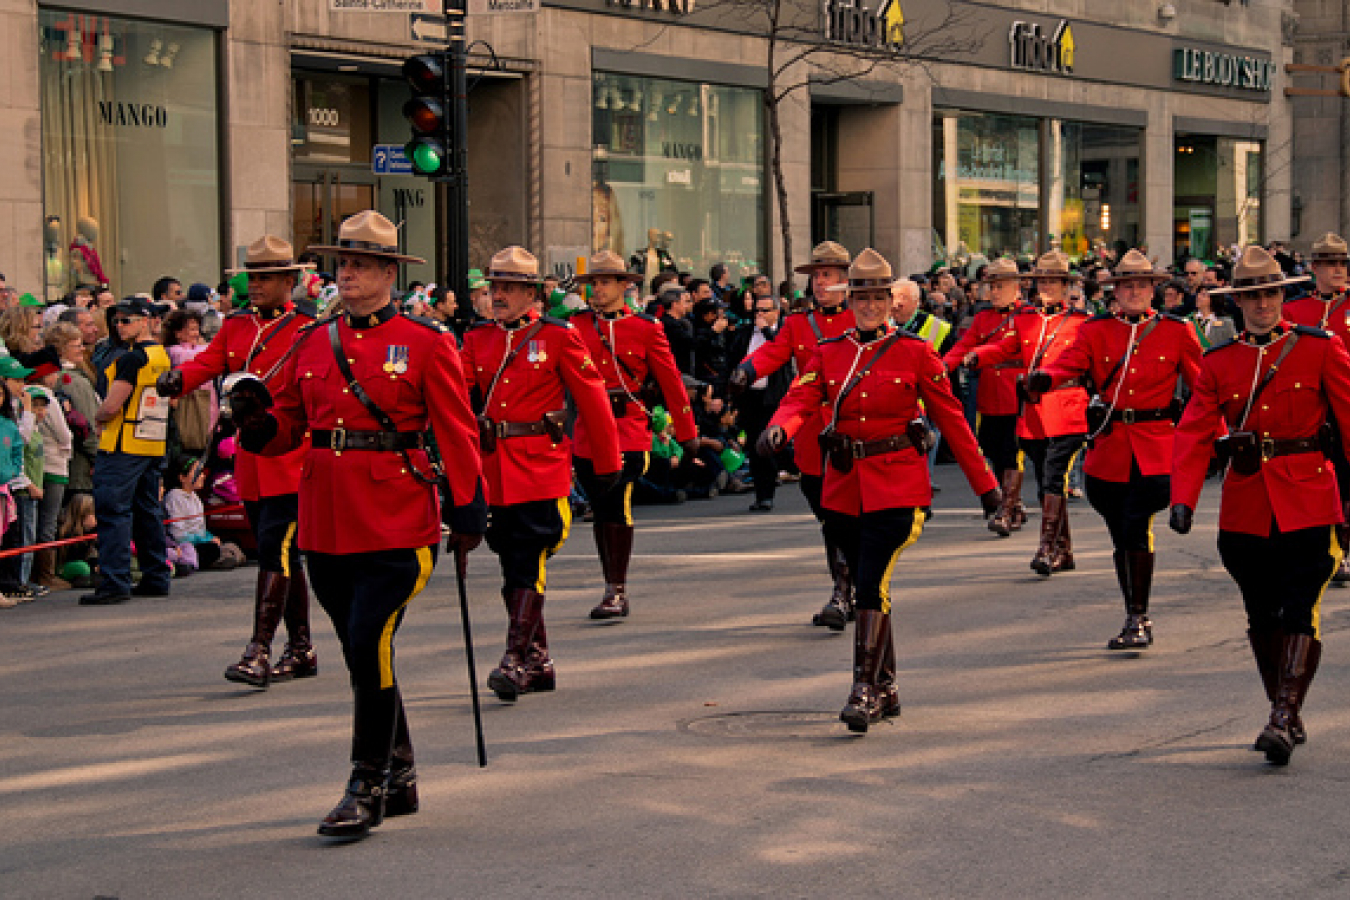
[[[891,611],[891,576],[900,553],[919,540],[923,510],[888,509],[844,515],[825,510],[825,537],[844,553],[856,575],[855,602],[860,610]]]

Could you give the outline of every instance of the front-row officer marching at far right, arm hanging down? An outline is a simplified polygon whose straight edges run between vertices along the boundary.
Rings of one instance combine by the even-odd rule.
[[[1191,530],[1211,453],[1228,466],[1219,557],[1242,591],[1270,702],[1254,749],[1276,765],[1307,741],[1300,710],[1322,658],[1322,596],[1341,564],[1334,529],[1342,498],[1322,432],[1332,414],[1350,422],[1345,345],[1281,314],[1285,285],[1300,281],[1307,277],[1285,277],[1261,247],[1242,252],[1223,293],[1246,329],[1204,355],[1172,464],[1170,525],[1181,534]]]

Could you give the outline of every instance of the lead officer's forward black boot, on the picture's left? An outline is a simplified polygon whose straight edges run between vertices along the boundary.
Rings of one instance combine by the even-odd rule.
[[[385,820],[389,762],[398,730],[398,688],[352,691],[351,779],[347,792],[319,824],[328,838],[364,838]]]

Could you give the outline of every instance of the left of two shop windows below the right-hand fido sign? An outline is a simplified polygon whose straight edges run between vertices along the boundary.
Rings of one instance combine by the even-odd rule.
[[[1041,233],[1035,119],[940,113],[933,154],[933,227],[948,256],[1035,254]]]

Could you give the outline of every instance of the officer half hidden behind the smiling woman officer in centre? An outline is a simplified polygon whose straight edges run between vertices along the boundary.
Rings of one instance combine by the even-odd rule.
[[[815,308],[792,313],[783,320],[778,336],[764,344],[732,372],[729,390],[740,394],[760,378],[768,378],[783,366],[795,363],[796,371],[805,372],[815,348],[822,340],[838,337],[853,327],[853,313],[848,309],[846,291],[830,290],[848,283],[849,252],[833,240],[817,244],[811,251],[811,262],[798,266],[794,271],[811,277],[811,296]],[[802,474],[802,494],[811,506],[811,513],[821,522],[821,536],[825,538],[825,564],[834,582],[830,599],[811,618],[811,625],[824,625],[833,631],[842,631],[853,621],[853,573],[844,560],[842,551],[830,538],[825,528],[825,507],[821,505],[824,468],[818,436],[825,426],[825,410],[802,422],[792,443],[792,459]]]

